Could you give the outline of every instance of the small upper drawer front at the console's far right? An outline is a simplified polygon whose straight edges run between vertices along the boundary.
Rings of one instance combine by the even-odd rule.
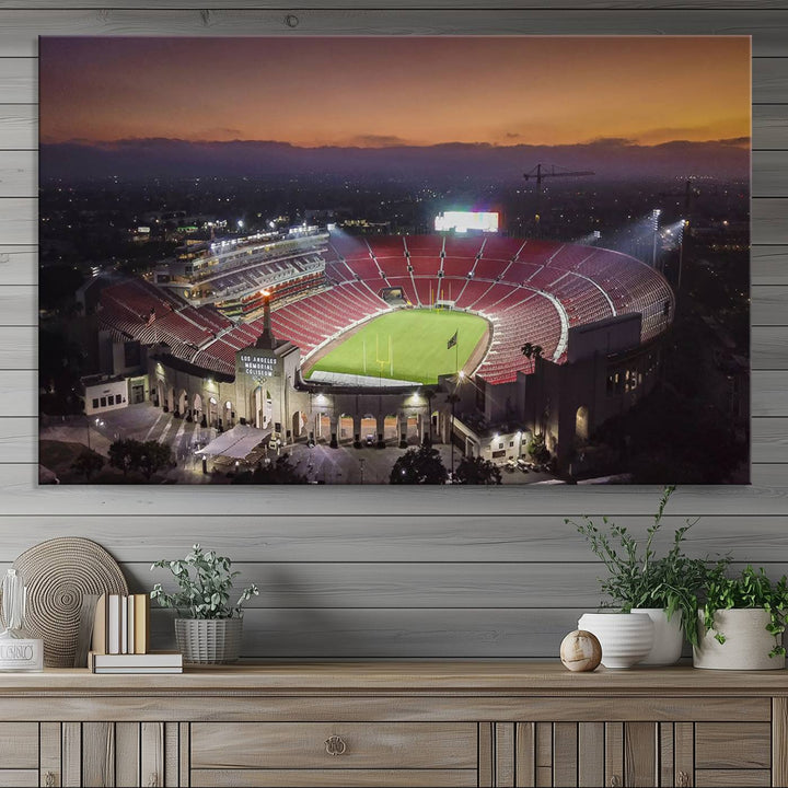
[[[695,768],[769,768],[772,726],[768,722],[697,722]]]

